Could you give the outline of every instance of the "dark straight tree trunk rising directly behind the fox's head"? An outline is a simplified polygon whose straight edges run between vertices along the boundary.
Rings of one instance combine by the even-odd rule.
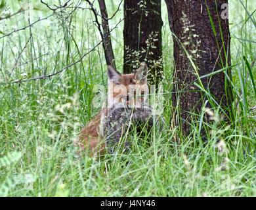
[[[146,62],[148,79],[157,84],[162,76],[161,0],[125,0],[124,16],[123,72],[131,73],[140,62]]]

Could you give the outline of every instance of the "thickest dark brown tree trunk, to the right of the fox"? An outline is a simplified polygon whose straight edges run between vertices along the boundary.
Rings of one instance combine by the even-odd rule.
[[[174,39],[173,106],[179,106],[175,124],[182,125],[184,134],[190,132],[191,112],[200,112],[206,97],[198,75],[211,74],[230,66],[230,32],[224,3],[220,1],[165,0]],[[175,37],[176,36],[176,37]],[[183,47],[182,47],[183,46]],[[186,50],[185,50],[186,49]],[[231,78],[231,69],[225,70]],[[224,71],[201,79],[204,89],[228,114],[232,102],[231,85]],[[225,85],[226,83],[226,85]],[[214,101],[209,100],[209,101]],[[218,106],[216,103],[207,107]]]

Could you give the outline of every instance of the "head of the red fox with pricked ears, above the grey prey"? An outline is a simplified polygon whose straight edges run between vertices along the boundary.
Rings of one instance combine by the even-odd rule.
[[[147,103],[148,67],[143,62],[133,74],[120,74],[108,66],[108,108],[122,103],[125,107],[142,107]]]

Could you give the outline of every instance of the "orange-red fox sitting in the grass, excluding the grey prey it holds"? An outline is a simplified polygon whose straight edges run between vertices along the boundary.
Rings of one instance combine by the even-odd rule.
[[[140,107],[147,103],[146,94],[148,68],[143,62],[133,74],[120,74],[112,66],[108,66],[108,100],[107,107],[102,108],[81,130],[75,144],[89,152],[89,156],[98,156],[106,152],[104,127],[108,111],[116,104],[123,103],[127,107]],[[138,93],[139,92],[139,93]]]

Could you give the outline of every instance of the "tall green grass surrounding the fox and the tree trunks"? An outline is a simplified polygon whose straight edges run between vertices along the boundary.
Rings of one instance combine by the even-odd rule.
[[[1,16],[28,3],[5,2]],[[93,15],[85,9],[68,9],[1,38],[51,14],[39,1],[30,3],[33,10],[0,21],[0,196],[256,196],[253,0],[230,1],[230,79],[236,110],[232,125],[221,121],[218,109],[203,106],[188,137],[177,127],[165,126],[162,131],[155,127],[145,138],[133,127],[127,137],[133,141],[131,152],[99,159],[78,156],[72,142],[100,110],[93,98],[98,94],[95,85],[106,87],[107,81],[101,45],[61,74],[11,84],[57,72],[93,49],[100,41]],[[86,7],[78,0],[74,7],[79,3]],[[106,3],[113,14],[118,3]],[[169,121],[173,117],[172,39],[164,4],[162,10],[163,117]],[[123,11],[117,12],[110,28],[122,16]],[[119,71],[123,66],[122,28],[123,23],[112,33]],[[206,114],[211,123],[203,121]]]

